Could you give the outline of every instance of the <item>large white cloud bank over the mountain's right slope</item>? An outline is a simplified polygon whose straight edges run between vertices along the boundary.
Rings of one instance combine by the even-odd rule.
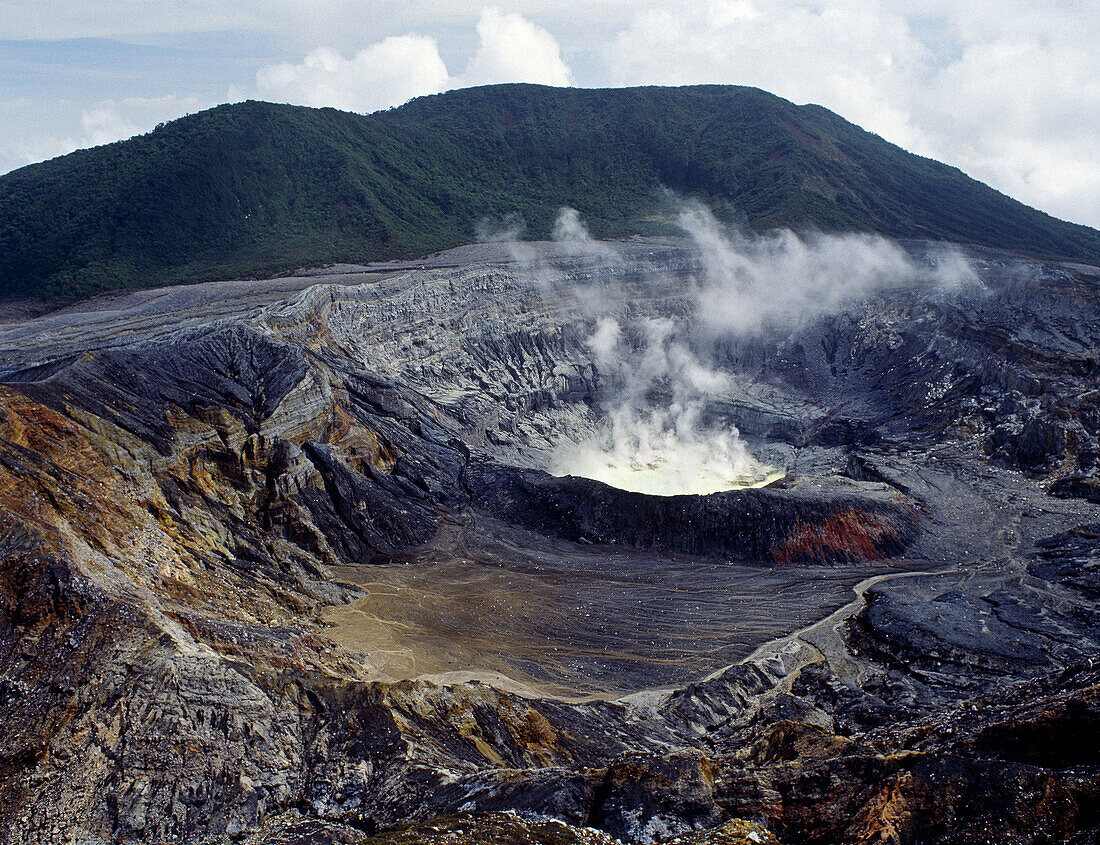
[[[675,0],[604,51],[617,85],[816,102],[1050,213],[1100,224],[1100,3]]]

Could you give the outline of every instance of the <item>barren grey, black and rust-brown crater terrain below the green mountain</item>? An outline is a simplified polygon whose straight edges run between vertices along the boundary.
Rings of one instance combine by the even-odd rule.
[[[971,266],[706,359],[680,242],[0,327],[0,838],[1090,841],[1097,277]],[[783,480],[543,472],[612,319]]]

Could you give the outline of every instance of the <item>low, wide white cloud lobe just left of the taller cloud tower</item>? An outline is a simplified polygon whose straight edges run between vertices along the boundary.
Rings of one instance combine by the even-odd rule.
[[[436,40],[427,35],[391,36],[351,58],[319,47],[301,64],[282,63],[256,72],[262,99],[301,106],[332,106],[375,111],[422,94],[450,87]]]

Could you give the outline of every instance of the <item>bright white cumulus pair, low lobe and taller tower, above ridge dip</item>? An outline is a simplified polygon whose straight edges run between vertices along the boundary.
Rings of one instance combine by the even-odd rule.
[[[318,47],[300,64],[284,62],[261,68],[256,96],[370,112],[470,85],[572,83],[558,42],[519,14],[483,9],[477,37],[477,51],[460,76],[448,72],[435,39],[410,33],[371,44],[351,58]]]

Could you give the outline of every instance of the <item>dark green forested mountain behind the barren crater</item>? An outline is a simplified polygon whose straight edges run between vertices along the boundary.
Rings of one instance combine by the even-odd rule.
[[[728,218],[1100,260],[1100,232],[1031,209],[817,106],[754,88],[504,85],[362,116],[221,106],[0,177],[0,297],[410,256],[520,213],[653,231],[663,187]]]

